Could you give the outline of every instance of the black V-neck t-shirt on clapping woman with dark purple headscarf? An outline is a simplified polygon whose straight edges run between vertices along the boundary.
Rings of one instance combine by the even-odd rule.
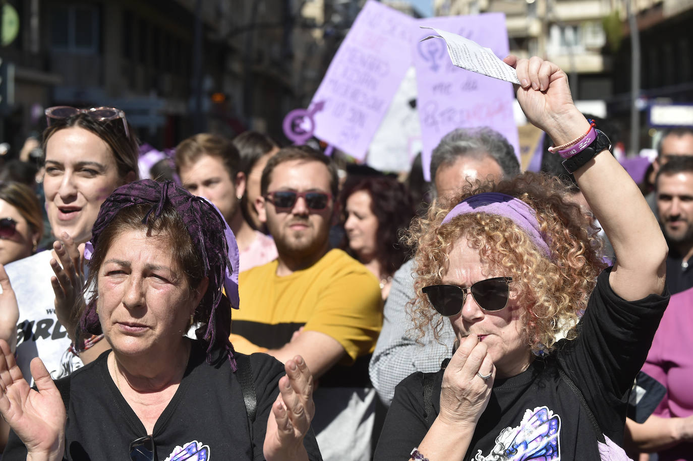
[[[104,352],[67,378],[71,384],[65,460],[128,460],[130,442],[147,435],[111,379],[107,357]],[[210,365],[202,344],[193,341],[180,386],[154,426],[157,460],[265,459],[267,418],[279,394],[279,378],[285,373],[283,365],[267,354],[252,354],[249,361],[257,395],[252,440],[243,392],[229,362],[218,359]],[[322,461],[312,430],[304,445],[310,460]],[[188,451],[191,458],[176,458],[181,451]],[[26,460],[26,449],[14,433],[10,433],[3,460]]]

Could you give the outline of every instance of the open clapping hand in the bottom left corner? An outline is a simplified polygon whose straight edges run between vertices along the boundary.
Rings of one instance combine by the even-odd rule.
[[[0,340],[0,350],[0,414],[24,442],[27,459],[62,460],[67,418],[51,375],[41,359],[33,359],[31,375],[37,387],[33,390],[8,343]]]

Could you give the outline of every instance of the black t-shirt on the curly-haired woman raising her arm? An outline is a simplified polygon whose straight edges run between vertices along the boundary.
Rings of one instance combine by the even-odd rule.
[[[534,360],[525,372],[493,383],[465,460],[599,460],[595,429],[559,367],[582,391],[604,434],[622,443],[629,390],[669,295],[627,302],[611,290],[609,273],[599,275],[577,339],[560,341],[555,352]],[[436,415],[443,372],[435,374],[433,386]],[[416,372],[397,386],[375,460],[408,459],[433,424],[435,415],[428,422],[424,417],[423,379]],[[515,458],[517,451],[527,453]]]

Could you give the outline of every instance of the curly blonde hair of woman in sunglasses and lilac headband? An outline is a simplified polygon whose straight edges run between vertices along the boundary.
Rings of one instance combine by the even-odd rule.
[[[532,207],[552,257],[548,258],[507,217],[470,213],[442,224],[456,204],[482,192],[502,192]],[[476,181],[467,183],[453,200],[434,201],[428,215],[414,219],[403,239],[416,249],[416,299],[407,309],[414,319],[417,340],[427,329],[439,339],[444,319],[421,289],[441,283],[448,269],[448,254],[463,237],[491,270],[501,269],[503,275],[513,278],[514,291],[525,307],[520,323],[532,352],[548,353],[559,338],[574,338],[577,321],[606,263],[593,215],[568,201],[565,197],[569,193],[555,177],[536,173],[520,174],[498,184]]]

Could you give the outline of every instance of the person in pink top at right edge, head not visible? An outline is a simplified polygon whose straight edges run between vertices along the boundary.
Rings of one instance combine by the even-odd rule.
[[[635,446],[660,461],[693,460],[693,288],[672,295],[642,371],[667,394],[643,424],[627,420]]]

